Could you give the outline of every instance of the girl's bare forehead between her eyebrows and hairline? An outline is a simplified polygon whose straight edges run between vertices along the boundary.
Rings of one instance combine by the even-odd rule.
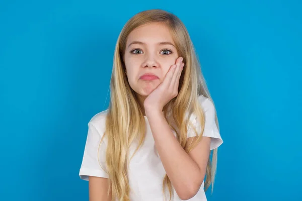
[[[174,44],[170,28],[164,23],[148,23],[132,30],[127,38],[127,44],[140,41],[146,44],[171,42]]]

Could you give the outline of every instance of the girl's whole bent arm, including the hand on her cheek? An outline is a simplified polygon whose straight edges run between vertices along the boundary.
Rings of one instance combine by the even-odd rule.
[[[164,81],[144,100],[143,106],[166,173],[181,199],[193,197],[203,182],[210,153],[210,138],[202,141],[187,154],[174,138],[163,108],[178,94],[179,79],[184,67],[183,58],[167,72]],[[193,141],[191,138],[190,141]]]

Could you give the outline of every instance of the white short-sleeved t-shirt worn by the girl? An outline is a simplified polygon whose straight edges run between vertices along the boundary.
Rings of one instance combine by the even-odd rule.
[[[211,137],[210,149],[215,149],[222,144],[222,139],[215,124],[215,109],[209,98],[203,95],[199,96],[199,102],[205,112],[205,127],[203,136]],[[88,176],[97,176],[108,178],[106,171],[106,138],[102,141],[99,153],[98,147],[100,140],[105,131],[106,111],[96,114],[88,123],[88,136],[84,150],[82,165],[80,168],[80,178],[88,180]],[[190,117],[193,125],[195,125],[197,132],[201,131],[200,125],[198,126],[196,116]],[[156,150],[154,138],[145,117],[146,134],[145,141],[141,148],[135,153],[129,162],[128,178],[130,185],[130,200],[131,201],[162,201],[163,195],[163,178],[166,175],[165,168],[161,162],[160,156]],[[174,133],[174,135],[176,135]],[[194,137],[194,130],[188,127],[188,137]],[[132,156],[136,145],[131,147],[130,156]],[[99,155],[99,156],[98,156]],[[99,157],[99,160],[98,160]],[[103,167],[103,170],[101,166]],[[204,192],[204,182],[200,186],[197,194],[192,197],[191,201],[205,201],[206,196]],[[167,189],[167,188],[166,188]],[[167,190],[166,200],[169,200],[169,193]],[[174,190],[171,200],[181,200],[176,191]]]

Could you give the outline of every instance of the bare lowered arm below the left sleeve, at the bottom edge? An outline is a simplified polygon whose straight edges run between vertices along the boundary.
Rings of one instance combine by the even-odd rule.
[[[89,201],[110,201],[111,191],[107,196],[108,188],[107,178],[89,176]]]

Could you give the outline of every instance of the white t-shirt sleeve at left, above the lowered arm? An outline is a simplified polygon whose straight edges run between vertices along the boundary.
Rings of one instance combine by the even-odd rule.
[[[88,176],[108,178],[106,172],[106,143],[105,140],[101,142],[101,138],[102,136],[96,127],[89,123],[84,156],[79,173],[80,178],[83,180],[88,181]]]

